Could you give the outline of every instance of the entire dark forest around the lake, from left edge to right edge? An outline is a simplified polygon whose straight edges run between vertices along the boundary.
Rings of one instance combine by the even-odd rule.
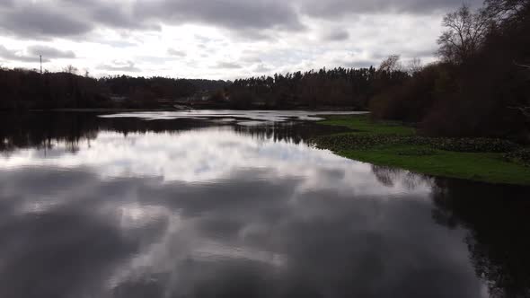
[[[156,99],[210,91],[232,109],[370,110],[428,136],[514,136],[530,128],[530,0],[465,4],[442,20],[438,60],[403,64],[399,55],[369,68],[322,68],[234,82],[162,77],[94,79],[66,70],[0,70],[0,110],[155,108]],[[436,37],[433,37],[436,39]],[[213,92],[216,91],[216,92]]]

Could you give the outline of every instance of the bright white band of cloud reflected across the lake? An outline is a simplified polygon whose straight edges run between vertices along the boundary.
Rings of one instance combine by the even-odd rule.
[[[76,153],[68,153],[59,143],[45,155],[44,149],[23,149],[0,159],[4,168],[24,166],[75,169],[92,167],[105,178],[157,177],[164,181],[191,183],[222,180],[241,169],[270,169],[271,177],[304,177],[306,188],[332,186],[358,194],[396,194],[407,189],[397,185],[380,188],[371,165],[353,162],[327,151],[301,144],[275,142],[236,134],[230,127],[211,127],[172,133],[123,135],[100,132]],[[308,166],[310,165],[310,166]],[[337,187],[336,184],[348,187]],[[428,185],[414,191],[427,191]]]

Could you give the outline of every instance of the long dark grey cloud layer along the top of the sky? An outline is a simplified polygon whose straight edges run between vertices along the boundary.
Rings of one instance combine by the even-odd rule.
[[[479,3],[472,0],[470,4]],[[228,29],[246,39],[269,39],[274,31],[304,30],[302,15],[331,19],[346,13],[431,13],[460,4],[460,0],[2,0],[0,30],[31,39],[49,39],[84,35],[101,27],[158,31],[162,23],[200,23]],[[345,36],[342,32],[330,38],[340,40]]]

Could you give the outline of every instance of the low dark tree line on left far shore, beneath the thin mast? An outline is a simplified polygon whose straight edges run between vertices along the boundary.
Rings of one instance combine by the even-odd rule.
[[[160,76],[75,74],[75,67],[40,74],[27,69],[0,68],[0,110],[155,108],[158,99],[179,99],[195,92],[223,89],[228,82],[172,79]],[[122,101],[113,101],[122,98]]]

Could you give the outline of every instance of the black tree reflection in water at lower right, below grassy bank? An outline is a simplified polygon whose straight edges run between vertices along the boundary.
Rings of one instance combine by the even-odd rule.
[[[465,239],[477,276],[493,297],[530,297],[530,189],[437,180],[437,223],[469,230]]]

